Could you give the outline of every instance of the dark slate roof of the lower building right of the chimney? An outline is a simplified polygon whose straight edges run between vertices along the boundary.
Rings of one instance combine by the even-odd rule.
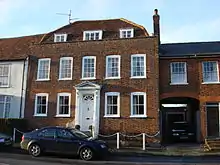
[[[161,44],[160,57],[220,54],[220,41]]]

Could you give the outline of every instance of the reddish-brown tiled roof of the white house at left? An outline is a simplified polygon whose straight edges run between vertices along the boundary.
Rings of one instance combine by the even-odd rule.
[[[19,60],[28,56],[30,45],[37,43],[42,34],[0,39],[0,60]]]

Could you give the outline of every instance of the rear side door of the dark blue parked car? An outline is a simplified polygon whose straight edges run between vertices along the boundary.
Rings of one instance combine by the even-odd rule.
[[[38,133],[38,142],[40,146],[46,151],[56,152],[56,129],[46,128]]]

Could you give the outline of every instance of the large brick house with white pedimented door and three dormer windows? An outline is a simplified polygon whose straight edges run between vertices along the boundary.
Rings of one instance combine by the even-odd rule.
[[[45,34],[28,50],[25,118],[32,128],[93,126],[96,136],[156,134],[158,46],[156,34],[126,19],[77,21]]]

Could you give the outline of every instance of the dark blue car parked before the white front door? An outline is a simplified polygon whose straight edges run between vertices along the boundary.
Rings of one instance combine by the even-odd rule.
[[[104,141],[92,139],[77,129],[65,127],[44,127],[24,133],[20,145],[34,157],[40,156],[42,152],[56,152],[92,160],[108,153],[108,146]]]

